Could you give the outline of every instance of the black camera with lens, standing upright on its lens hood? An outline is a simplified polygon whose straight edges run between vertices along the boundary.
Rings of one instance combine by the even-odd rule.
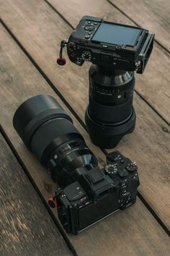
[[[141,27],[84,16],[68,40],[61,41],[58,64],[66,63],[64,46],[73,63],[92,63],[85,121],[95,145],[114,148],[122,136],[133,132],[134,71],[142,74],[146,68],[153,38],[153,33]]]

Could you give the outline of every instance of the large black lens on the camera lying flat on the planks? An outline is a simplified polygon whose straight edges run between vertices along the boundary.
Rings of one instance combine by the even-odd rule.
[[[27,148],[50,170],[58,184],[76,180],[77,168],[85,171],[97,166],[97,158],[52,96],[37,95],[22,103],[13,124]]]

